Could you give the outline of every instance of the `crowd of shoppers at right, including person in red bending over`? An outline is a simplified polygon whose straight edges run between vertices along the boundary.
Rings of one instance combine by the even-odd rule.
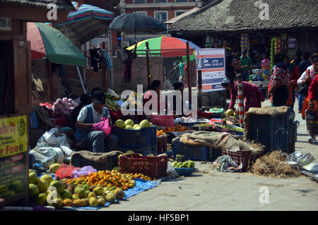
[[[242,51],[242,56],[238,56],[239,50],[233,49],[226,57],[226,78],[222,85],[230,91],[229,109],[235,109],[237,98],[237,77],[242,75],[245,111],[250,107],[261,107],[264,96],[259,87],[249,83],[249,71],[252,70],[252,60],[247,51]],[[269,64],[269,54],[264,56],[262,63]],[[287,106],[293,111],[295,98],[298,97],[298,113],[302,114],[302,119],[306,120],[308,142],[316,142],[317,135],[317,101],[318,101],[318,56],[306,52],[302,54],[298,51],[295,59],[291,59],[285,52],[278,52],[273,56],[273,68],[269,74],[268,95],[272,107]]]

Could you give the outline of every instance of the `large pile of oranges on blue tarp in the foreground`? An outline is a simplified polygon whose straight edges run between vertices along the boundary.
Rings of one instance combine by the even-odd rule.
[[[89,186],[102,186],[107,188],[117,187],[122,190],[128,190],[134,188],[136,181],[133,178],[141,178],[146,181],[151,181],[151,178],[143,174],[122,174],[118,171],[98,171],[96,173],[90,173],[88,176],[82,175],[78,178],[71,178],[66,183],[78,183],[86,182]],[[73,181],[73,182],[72,182]]]

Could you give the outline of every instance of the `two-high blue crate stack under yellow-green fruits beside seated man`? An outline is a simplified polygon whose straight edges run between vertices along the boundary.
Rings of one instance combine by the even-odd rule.
[[[135,153],[143,155],[157,154],[157,126],[140,130],[125,130],[116,127],[114,135],[118,137],[119,150],[122,152],[133,150]]]

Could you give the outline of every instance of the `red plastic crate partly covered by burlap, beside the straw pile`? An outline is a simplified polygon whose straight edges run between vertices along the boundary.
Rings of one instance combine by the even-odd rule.
[[[222,155],[228,155],[232,159],[232,161],[237,164],[237,166],[242,163],[242,172],[245,172],[247,171],[247,169],[252,167],[252,164],[255,162],[256,159],[264,155],[264,150],[261,151],[259,154],[252,156],[249,151],[230,152],[223,149]]]

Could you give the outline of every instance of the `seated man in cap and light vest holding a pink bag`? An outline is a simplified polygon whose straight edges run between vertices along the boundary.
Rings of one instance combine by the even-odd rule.
[[[96,123],[102,121],[102,118],[108,118],[110,126],[112,120],[110,113],[105,107],[105,94],[101,91],[96,91],[92,96],[92,104],[81,109],[75,124],[76,133],[75,138],[88,150],[93,152],[110,152],[117,147],[118,138],[115,135],[107,135],[100,130],[93,130]]]

